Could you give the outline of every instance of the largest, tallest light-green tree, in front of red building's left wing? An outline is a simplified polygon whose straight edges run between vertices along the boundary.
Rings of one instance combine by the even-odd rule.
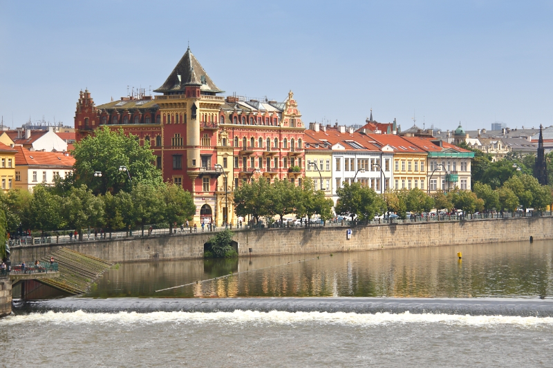
[[[94,133],[75,144],[75,185],[87,184],[95,194],[131,192],[131,182],[126,172],[119,171],[120,166],[129,169],[133,184],[162,181],[160,171],[153,166],[156,156],[148,144],[140,146],[137,137],[126,136],[123,130],[111,131],[107,126]],[[96,171],[102,176],[94,176]]]

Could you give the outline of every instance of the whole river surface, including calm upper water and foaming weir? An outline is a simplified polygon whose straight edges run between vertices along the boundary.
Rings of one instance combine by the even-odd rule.
[[[0,320],[2,361],[551,367],[552,260],[536,241],[121,264]]]

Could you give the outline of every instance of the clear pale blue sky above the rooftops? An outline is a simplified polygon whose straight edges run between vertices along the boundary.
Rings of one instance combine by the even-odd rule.
[[[187,50],[225,95],[284,101],[303,122],[397,119],[442,130],[553,125],[553,1],[0,0],[4,124],[73,126],[158,88]]]

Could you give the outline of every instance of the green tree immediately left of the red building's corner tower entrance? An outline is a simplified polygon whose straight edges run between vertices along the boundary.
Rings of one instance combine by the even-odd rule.
[[[165,222],[169,224],[182,224],[186,220],[191,220],[196,213],[196,204],[189,191],[185,191],[180,186],[170,183],[159,186],[162,201],[165,206],[163,216]]]

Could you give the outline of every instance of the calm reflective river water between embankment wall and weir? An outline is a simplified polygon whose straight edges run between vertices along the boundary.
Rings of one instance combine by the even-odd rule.
[[[553,242],[122,264],[87,296],[552,296]],[[462,262],[456,252],[462,251]],[[229,275],[230,274],[230,275]],[[223,275],[228,277],[221,278]],[[201,282],[201,280],[209,280]],[[199,281],[156,293],[156,290]]]

